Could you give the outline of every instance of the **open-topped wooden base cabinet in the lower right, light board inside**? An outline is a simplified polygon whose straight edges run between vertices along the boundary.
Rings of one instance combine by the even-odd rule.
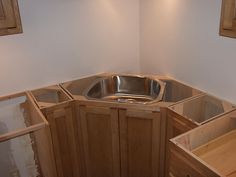
[[[169,174],[175,177],[236,176],[236,111],[170,142]]]

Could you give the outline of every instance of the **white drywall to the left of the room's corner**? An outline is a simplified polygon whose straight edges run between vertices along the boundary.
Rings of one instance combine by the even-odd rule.
[[[99,72],[139,71],[138,0],[19,0],[0,37],[0,95]]]

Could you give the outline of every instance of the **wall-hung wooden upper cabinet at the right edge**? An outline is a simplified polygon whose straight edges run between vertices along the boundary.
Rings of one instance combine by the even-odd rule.
[[[236,38],[236,0],[222,0],[220,35]]]

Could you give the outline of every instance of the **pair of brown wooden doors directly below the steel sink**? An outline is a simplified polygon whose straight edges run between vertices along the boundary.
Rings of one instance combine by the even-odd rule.
[[[78,103],[86,177],[158,177],[160,112]]]

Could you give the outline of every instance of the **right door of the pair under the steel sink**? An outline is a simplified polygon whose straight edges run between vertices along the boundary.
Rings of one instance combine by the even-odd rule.
[[[157,177],[160,112],[119,110],[122,177]]]

